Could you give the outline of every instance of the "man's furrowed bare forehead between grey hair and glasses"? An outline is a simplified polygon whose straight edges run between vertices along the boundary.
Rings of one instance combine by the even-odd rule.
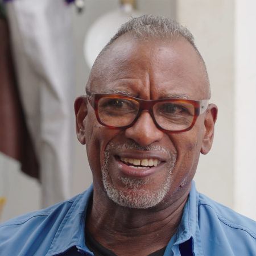
[[[187,40],[142,40],[129,35],[118,38],[100,57],[90,90],[147,99],[207,97],[204,66]]]

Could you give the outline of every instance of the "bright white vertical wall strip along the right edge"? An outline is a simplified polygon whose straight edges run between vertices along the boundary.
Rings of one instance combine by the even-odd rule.
[[[236,0],[234,208],[256,220],[256,2]]]

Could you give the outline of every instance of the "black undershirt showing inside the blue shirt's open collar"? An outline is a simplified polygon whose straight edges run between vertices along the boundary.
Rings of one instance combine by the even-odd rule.
[[[86,231],[85,231],[86,232]],[[100,243],[98,243],[88,232],[86,232],[86,246],[90,251],[94,253],[95,256],[117,256],[113,253],[113,251],[110,251],[106,247],[102,246]],[[154,253],[149,254],[148,256],[163,256],[164,251],[166,250],[166,247],[155,251]]]

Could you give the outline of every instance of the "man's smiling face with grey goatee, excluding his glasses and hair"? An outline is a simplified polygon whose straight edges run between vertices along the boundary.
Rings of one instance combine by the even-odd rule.
[[[203,65],[184,39],[146,42],[124,35],[104,53],[99,67],[90,79],[93,93],[144,100],[208,98]],[[147,111],[127,129],[109,129],[98,123],[89,103],[84,108],[86,117],[77,118],[77,131],[86,142],[94,190],[130,208],[168,205],[179,191],[188,191],[209,133],[205,115],[211,114],[200,115],[191,130],[174,134],[159,130]]]

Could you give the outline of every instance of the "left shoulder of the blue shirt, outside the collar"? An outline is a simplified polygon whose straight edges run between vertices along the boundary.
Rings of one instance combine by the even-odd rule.
[[[81,196],[0,224],[0,255],[27,255],[32,250],[46,255],[60,226],[75,214]]]

